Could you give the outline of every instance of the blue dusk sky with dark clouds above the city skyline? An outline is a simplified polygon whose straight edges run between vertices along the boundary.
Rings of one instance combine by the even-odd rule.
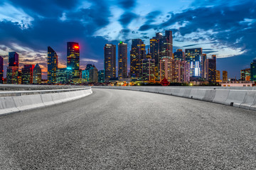
[[[67,42],[80,44],[80,68],[104,69],[104,45],[172,30],[176,49],[202,47],[217,55],[217,69],[240,78],[256,59],[255,0],[1,0],[0,55],[11,51],[20,66],[38,63],[47,76],[47,47],[66,66]],[[129,63],[129,53],[128,53]],[[20,68],[21,68],[20,67]]]

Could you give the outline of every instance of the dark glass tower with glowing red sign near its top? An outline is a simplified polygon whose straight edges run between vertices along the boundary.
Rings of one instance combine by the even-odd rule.
[[[67,68],[72,71],[71,79],[80,78],[80,47],[78,42],[67,42]]]

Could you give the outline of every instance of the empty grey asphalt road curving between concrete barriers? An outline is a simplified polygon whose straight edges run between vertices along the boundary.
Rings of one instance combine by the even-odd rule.
[[[256,112],[93,89],[0,117],[0,169],[256,169]]]

